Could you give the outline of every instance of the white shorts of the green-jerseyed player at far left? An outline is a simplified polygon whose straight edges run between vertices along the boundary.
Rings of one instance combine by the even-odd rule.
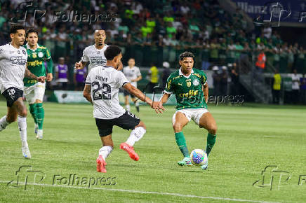
[[[35,85],[24,87],[25,99],[29,104],[34,104],[36,99],[44,100],[44,94],[46,89],[46,83],[36,83]]]

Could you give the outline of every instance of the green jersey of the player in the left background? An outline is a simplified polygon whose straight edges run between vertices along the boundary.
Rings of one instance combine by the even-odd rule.
[[[31,71],[35,76],[46,76],[46,68],[44,65],[45,60],[51,60],[50,51],[42,46],[37,44],[36,50],[32,50],[29,48],[29,45],[24,45],[27,49],[27,69]],[[48,67],[48,73],[52,73],[53,67]],[[30,78],[24,78],[23,83],[26,87],[35,85],[37,80],[33,80]]]

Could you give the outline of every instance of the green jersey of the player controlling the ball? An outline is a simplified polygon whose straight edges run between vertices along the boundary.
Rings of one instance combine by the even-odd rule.
[[[202,89],[206,81],[207,76],[204,71],[192,69],[192,73],[187,77],[179,69],[168,77],[164,92],[166,94],[175,94],[177,110],[207,109]]]

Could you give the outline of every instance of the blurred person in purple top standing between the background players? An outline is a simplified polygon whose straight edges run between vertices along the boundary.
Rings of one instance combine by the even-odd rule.
[[[56,73],[56,82],[58,83],[58,88],[61,90],[67,90],[67,83],[68,80],[68,66],[65,64],[65,58],[59,58],[59,64],[55,66],[55,73]]]

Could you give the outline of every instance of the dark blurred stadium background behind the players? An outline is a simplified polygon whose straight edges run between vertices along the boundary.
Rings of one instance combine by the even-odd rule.
[[[60,57],[69,67],[65,90],[82,90],[74,80],[74,63],[94,43],[93,31],[105,29],[106,43],[124,51],[124,66],[130,57],[135,58],[142,71],[140,90],[152,91],[146,88],[150,81],[146,76],[156,66],[156,92],[161,93],[168,74],[179,68],[178,55],[189,50],[196,56],[195,68],[206,72],[212,95],[244,95],[246,102],[306,104],[306,19],[298,22],[306,1],[276,1],[277,6],[256,0],[24,2],[0,0],[0,45],[10,41],[11,22],[25,19],[27,27],[34,25],[39,44],[51,50],[54,71]],[[262,8],[266,8],[263,13]],[[290,10],[291,15],[281,16],[277,26],[281,9]],[[89,23],[86,17],[74,20],[79,18],[76,14],[105,14],[107,18]],[[275,23],[264,23],[270,16]],[[280,88],[275,85],[278,73]],[[46,99],[52,100],[53,90],[61,88],[54,78]]]

